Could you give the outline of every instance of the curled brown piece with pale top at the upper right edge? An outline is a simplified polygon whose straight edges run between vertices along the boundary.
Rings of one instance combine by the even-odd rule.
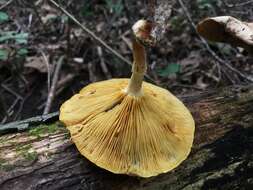
[[[253,53],[253,23],[231,16],[211,17],[199,22],[197,31],[207,40],[239,46]]]

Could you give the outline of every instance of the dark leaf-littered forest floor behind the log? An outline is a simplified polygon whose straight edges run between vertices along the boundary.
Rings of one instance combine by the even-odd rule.
[[[252,21],[253,1],[184,0],[186,11],[179,2],[170,1],[172,10],[166,34],[155,48],[148,50],[147,75],[152,82],[177,95],[249,83],[247,76],[253,76],[253,58],[229,45],[209,43],[210,49],[206,48],[194,25],[207,16],[217,15]],[[132,60],[131,26],[147,17],[147,1],[58,3],[111,48]],[[89,83],[130,74],[130,65],[106,51],[52,3],[0,2],[0,123],[45,112],[54,82],[50,112],[58,110]]]

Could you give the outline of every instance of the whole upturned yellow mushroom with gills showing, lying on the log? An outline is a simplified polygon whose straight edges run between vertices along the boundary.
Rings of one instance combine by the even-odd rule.
[[[111,79],[84,87],[60,108],[60,120],[79,152],[117,174],[150,177],[177,167],[190,153],[194,120],[166,89],[143,82],[145,46],[152,24],[132,27],[131,79]]]

